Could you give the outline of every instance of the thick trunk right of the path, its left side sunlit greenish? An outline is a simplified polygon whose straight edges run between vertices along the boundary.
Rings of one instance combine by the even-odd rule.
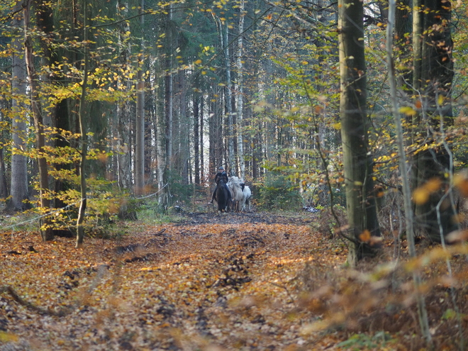
[[[345,169],[351,265],[371,255],[370,235],[380,235],[372,190],[372,156],[368,145],[363,4],[339,0],[340,119]]]

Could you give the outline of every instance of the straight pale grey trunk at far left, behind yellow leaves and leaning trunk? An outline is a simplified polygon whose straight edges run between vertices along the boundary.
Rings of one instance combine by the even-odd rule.
[[[21,10],[21,1],[18,1],[16,10]],[[13,16],[13,28],[18,29],[18,33],[12,40],[12,67],[11,67],[11,90],[13,99],[11,101],[11,201],[8,208],[13,211],[23,211],[26,209],[24,200],[29,198],[28,194],[28,167],[26,152],[26,110],[23,101],[26,97],[26,66],[21,51],[23,50],[23,40],[19,30],[23,30],[23,13],[16,12]]]

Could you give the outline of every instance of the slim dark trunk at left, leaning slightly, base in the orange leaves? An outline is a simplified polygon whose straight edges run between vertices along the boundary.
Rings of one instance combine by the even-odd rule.
[[[43,115],[40,108],[40,101],[38,95],[38,75],[35,72],[33,60],[33,40],[30,37],[30,0],[23,3],[23,18],[24,18],[24,33],[25,33],[25,60],[26,72],[28,74],[31,107],[33,110],[34,127],[35,127],[35,141],[38,149],[38,167],[39,167],[39,196],[40,206],[43,211],[49,211],[50,208],[50,193],[49,193],[49,174],[48,165],[45,158],[45,136]],[[46,216],[41,219],[40,234],[43,241],[52,240],[54,234],[49,225],[50,219]]]

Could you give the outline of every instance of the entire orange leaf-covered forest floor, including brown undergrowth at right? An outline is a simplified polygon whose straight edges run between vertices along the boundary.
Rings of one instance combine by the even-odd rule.
[[[423,350],[413,272],[391,263],[396,249],[406,261],[405,242],[384,236],[379,257],[350,269],[320,221],[186,213],[119,223],[118,238],[86,238],[83,250],[1,231],[0,350]],[[411,267],[426,282],[436,350],[460,350],[466,256],[419,250]]]

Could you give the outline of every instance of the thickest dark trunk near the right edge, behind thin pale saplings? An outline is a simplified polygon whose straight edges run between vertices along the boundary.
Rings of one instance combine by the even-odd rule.
[[[416,235],[440,241],[442,235],[457,229],[455,206],[450,206],[450,200],[445,196],[450,187],[445,174],[453,172],[450,150],[440,146],[441,140],[436,135],[444,132],[442,126],[453,123],[452,9],[450,1],[445,0],[424,0],[422,5],[426,11],[413,15],[414,45],[420,45],[420,49],[413,50],[414,83],[418,89],[416,106],[421,106],[415,124],[425,135],[424,143],[434,143],[434,146],[416,154],[413,187],[424,191],[425,183],[430,179],[439,182],[440,186],[437,191],[429,191],[428,201],[416,202]],[[438,213],[438,204],[444,197],[447,199]]]

